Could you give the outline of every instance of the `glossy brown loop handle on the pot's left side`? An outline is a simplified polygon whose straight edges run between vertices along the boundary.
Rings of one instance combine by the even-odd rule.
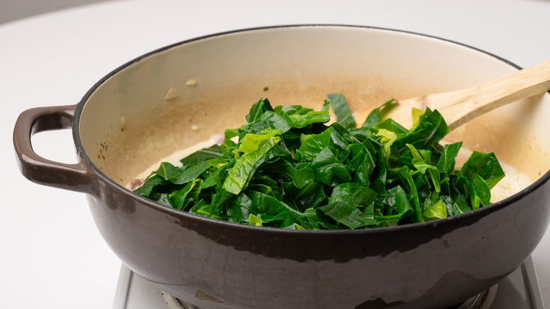
[[[82,159],[76,164],[54,162],[39,156],[33,149],[31,136],[48,130],[71,128],[76,105],[37,107],[21,113],[13,129],[13,145],[21,174],[45,186],[92,192],[92,170]]]

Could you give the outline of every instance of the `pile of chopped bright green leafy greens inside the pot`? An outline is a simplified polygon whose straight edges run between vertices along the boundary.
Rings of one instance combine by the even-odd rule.
[[[162,163],[134,192],[193,214],[286,229],[396,226],[489,205],[504,176],[494,154],[473,152],[458,170],[462,143],[439,144],[449,131],[441,114],[413,109],[408,130],[382,119],[392,104],[356,128],[341,94],[328,95],[320,111],[260,99],[224,143],[183,166]]]

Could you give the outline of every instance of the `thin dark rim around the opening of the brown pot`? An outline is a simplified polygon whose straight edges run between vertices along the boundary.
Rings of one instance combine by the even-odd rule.
[[[342,234],[342,235],[362,235],[362,234],[378,234],[378,233],[390,233],[390,232],[401,232],[407,231],[409,229],[421,229],[421,228],[435,228],[436,226],[441,225],[448,225],[452,224],[455,225],[457,221],[464,221],[464,222],[471,222],[474,220],[475,222],[479,221],[479,219],[482,219],[488,214],[491,214],[492,212],[496,212],[497,210],[500,210],[503,207],[506,207],[508,205],[513,204],[514,202],[517,202],[518,200],[521,200],[526,195],[532,193],[534,190],[537,190],[540,186],[542,186],[546,181],[549,181],[550,179],[550,170],[546,171],[543,176],[539,177],[536,181],[531,183],[529,186],[524,188],[523,190],[520,190],[520,192],[515,193],[514,195],[509,196],[508,198],[505,198],[499,202],[495,202],[491,205],[487,205],[484,207],[480,207],[477,210],[472,210],[470,212],[465,212],[463,214],[457,214],[455,216],[446,217],[444,219],[436,219],[429,222],[420,222],[415,224],[405,224],[401,226],[383,226],[383,227],[377,227],[372,229],[342,229],[342,230],[291,230],[291,229],[281,229],[281,228],[273,228],[269,226],[251,226],[249,224],[240,224],[240,223],[233,223],[233,222],[226,222],[224,220],[220,219],[212,219],[209,217],[200,216],[198,214],[191,214],[190,212],[185,212],[183,210],[176,210],[174,208],[166,207],[164,205],[161,205],[157,202],[154,202],[153,200],[149,200],[145,197],[142,197],[141,195],[135,194],[132,191],[128,190],[127,188],[124,188],[120,184],[116,183],[113,179],[109,178],[109,176],[106,176],[90,159],[90,156],[86,153],[83,145],[82,140],[80,140],[80,116],[82,114],[82,110],[84,109],[84,106],[88,99],[93,95],[95,90],[97,90],[98,87],[100,87],[103,83],[105,83],[109,78],[114,76],[116,73],[122,71],[125,68],[128,68],[129,66],[132,66],[135,63],[138,63],[142,60],[147,59],[149,56],[152,56],[154,54],[158,54],[160,52],[164,52],[168,49],[171,49],[173,47],[178,47],[183,44],[189,44],[191,42],[197,42],[201,40],[206,40],[212,37],[221,37],[225,35],[231,35],[236,34],[240,32],[255,32],[255,31],[262,31],[262,30],[276,30],[276,29],[283,29],[283,28],[359,28],[359,29],[370,29],[370,30],[382,30],[382,31],[388,31],[388,32],[398,32],[408,35],[418,35],[420,37],[426,37],[431,39],[436,39],[442,42],[456,44],[460,47],[467,47],[468,49],[472,49],[475,52],[481,52],[482,54],[486,54],[487,56],[491,56],[494,59],[497,59],[499,61],[502,61],[503,63],[508,64],[509,66],[512,66],[513,68],[517,68],[518,70],[521,69],[520,66],[516,65],[515,63],[512,63],[511,61],[508,61],[506,59],[501,58],[500,56],[496,56],[495,54],[491,54],[489,52],[486,52],[482,49],[478,49],[476,47],[471,47],[470,45],[455,42],[453,40],[447,40],[441,37],[436,37],[432,35],[424,35],[418,32],[411,32],[407,30],[396,30],[391,28],[379,28],[379,27],[372,27],[367,25],[346,25],[346,24],[292,24],[292,25],[271,25],[271,26],[263,26],[263,27],[255,27],[255,28],[243,28],[238,30],[228,30],[224,32],[216,32],[209,35],[203,35],[200,37],[194,37],[189,40],[183,40],[181,42],[176,42],[173,44],[166,45],[164,47],[160,47],[159,49],[154,49],[152,52],[148,52],[146,54],[142,54],[141,56],[138,56],[137,58],[130,60],[123,65],[119,66],[118,68],[115,68],[113,71],[105,75],[103,78],[101,78],[95,85],[93,85],[90,90],[86,92],[84,97],[78,102],[77,107],[75,109],[75,118],[73,121],[73,140],[75,142],[75,147],[80,155],[80,157],[90,166],[90,169],[94,171],[94,173],[102,179],[105,183],[108,183],[111,186],[114,186],[119,193],[128,195],[128,197],[132,198],[133,200],[140,202],[142,204],[147,205],[148,207],[152,207],[154,210],[158,210],[161,212],[164,212],[166,214],[169,214],[174,217],[181,217],[184,219],[188,219],[191,221],[196,222],[202,222],[203,224],[216,224],[219,226],[225,226],[227,228],[231,229],[250,229],[250,230],[258,230],[262,232],[274,232],[274,233],[291,233],[291,234]],[[550,94],[550,91],[548,92]],[[476,218],[477,217],[477,218]]]

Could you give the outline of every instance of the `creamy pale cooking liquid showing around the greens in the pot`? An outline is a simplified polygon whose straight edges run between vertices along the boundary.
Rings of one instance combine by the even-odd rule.
[[[216,140],[219,140],[220,138],[221,141],[223,141],[223,135],[213,135],[210,140],[206,140],[202,143],[197,143],[191,147],[187,147],[183,150],[174,152],[173,154],[170,154],[168,157],[161,159],[159,162],[153,164],[152,166],[149,166],[147,169],[145,169],[145,171],[139,174],[136,179],[140,180],[140,183],[142,181],[145,181],[145,178],[147,178],[147,176],[149,176],[153,171],[156,171],[159,168],[161,162],[169,162],[175,166],[181,166],[180,159],[187,157],[189,154],[193,154],[193,152],[196,152],[197,150],[201,150],[202,148],[214,145],[214,143],[216,143]],[[460,164],[465,162],[471,153],[471,150],[462,148],[458,154],[458,157],[456,158],[457,166],[460,166]],[[508,196],[520,192],[520,190],[523,190],[532,183],[532,181],[529,177],[527,177],[526,174],[519,173],[513,168],[513,166],[500,161],[499,163],[501,164],[504,174],[506,174],[506,176],[502,178],[502,180],[499,181],[499,183],[497,183],[494,188],[491,189],[491,202],[499,202],[500,200],[508,198]],[[130,190],[135,190],[135,188],[137,187],[133,187],[133,184],[134,182],[127,183],[126,188],[129,188]]]

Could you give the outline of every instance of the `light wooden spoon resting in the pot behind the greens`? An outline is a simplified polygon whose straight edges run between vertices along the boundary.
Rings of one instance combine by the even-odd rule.
[[[549,90],[550,59],[498,80],[464,90],[401,99],[386,118],[391,118],[405,128],[410,128],[412,107],[422,111],[429,107],[432,110],[437,109],[453,131],[488,111]],[[357,123],[361,125],[369,113],[370,110],[360,111],[355,117]]]

